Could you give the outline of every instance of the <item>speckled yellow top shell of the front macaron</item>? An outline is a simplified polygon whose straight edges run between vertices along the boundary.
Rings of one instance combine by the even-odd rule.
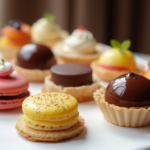
[[[35,120],[60,121],[78,113],[78,101],[65,93],[40,93],[25,99],[22,110],[27,117]]]

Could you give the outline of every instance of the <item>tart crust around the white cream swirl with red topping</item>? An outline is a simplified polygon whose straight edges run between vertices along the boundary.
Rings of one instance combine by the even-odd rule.
[[[62,51],[63,41],[58,42],[52,47],[52,50],[55,54],[56,61],[58,64],[64,63],[81,63],[90,66],[90,63],[99,58],[99,55],[104,51],[103,44],[96,44],[96,52],[95,54],[73,54],[73,53],[65,53]]]

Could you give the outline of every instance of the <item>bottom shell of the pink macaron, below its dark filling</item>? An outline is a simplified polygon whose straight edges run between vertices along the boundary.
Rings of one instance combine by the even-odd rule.
[[[29,95],[30,92],[28,92],[28,94],[22,98],[13,99],[13,100],[0,100],[0,110],[21,107],[23,100],[27,98]]]

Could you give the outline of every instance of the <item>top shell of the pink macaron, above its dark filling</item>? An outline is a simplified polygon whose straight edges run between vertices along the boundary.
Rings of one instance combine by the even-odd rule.
[[[6,78],[0,78],[0,96],[19,95],[27,91],[29,81],[19,75],[12,74]]]

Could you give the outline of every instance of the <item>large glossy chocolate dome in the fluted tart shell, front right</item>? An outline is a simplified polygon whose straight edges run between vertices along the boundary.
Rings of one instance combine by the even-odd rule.
[[[150,106],[150,80],[130,72],[121,75],[109,83],[105,101],[120,107]]]

